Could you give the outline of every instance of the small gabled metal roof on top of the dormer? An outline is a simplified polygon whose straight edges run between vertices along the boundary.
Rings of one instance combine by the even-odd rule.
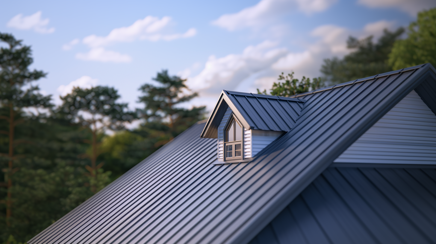
[[[228,107],[245,129],[290,131],[300,116],[305,101],[301,98],[223,90],[201,138],[217,138],[218,125]]]

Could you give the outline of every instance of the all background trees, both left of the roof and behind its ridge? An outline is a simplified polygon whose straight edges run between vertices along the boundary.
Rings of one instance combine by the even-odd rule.
[[[349,37],[350,53],[324,60],[323,78],[298,80],[282,73],[263,94],[291,96],[340,82],[430,62],[436,66],[436,9],[418,14],[405,32]],[[129,111],[115,88],[74,88],[54,108],[31,71],[31,48],[1,34],[0,49],[0,243],[23,243],[126,173],[147,156],[204,119],[204,107],[188,108],[197,94],[184,79],[163,70],[144,84]],[[139,126],[126,124],[139,119]],[[138,121],[138,120],[136,120]]]

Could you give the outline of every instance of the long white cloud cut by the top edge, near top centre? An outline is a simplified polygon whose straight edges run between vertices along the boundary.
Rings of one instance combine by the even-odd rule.
[[[294,9],[312,14],[326,10],[335,2],[337,0],[262,0],[238,13],[224,14],[212,24],[230,31],[245,27],[259,28]]]

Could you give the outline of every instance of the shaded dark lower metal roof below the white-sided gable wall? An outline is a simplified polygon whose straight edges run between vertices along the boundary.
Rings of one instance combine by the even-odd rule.
[[[328,168],[250,244],[435,243],[436,169]]]

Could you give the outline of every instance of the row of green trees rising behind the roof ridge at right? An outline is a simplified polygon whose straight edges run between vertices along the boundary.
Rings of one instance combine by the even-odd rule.
[[[403,34],[407,37],[401,39]],[[347,48],[351,52],[343,58],[324,59],[320,69],[323,77],[310,80],[303,76],[298,80],[293,77],[293,72],[286,76],[282,73],[269,94],[287,97],[324,85],[335,85],[424,63],[436,67],[436,8],[418,13],[417,20],[409,25],[407,31],[403,27],[394,32],[385,29],[377,42],[373,38],[369,36],[359,40],[348,37]],[[266,90],[257,91],[267,94]]]

